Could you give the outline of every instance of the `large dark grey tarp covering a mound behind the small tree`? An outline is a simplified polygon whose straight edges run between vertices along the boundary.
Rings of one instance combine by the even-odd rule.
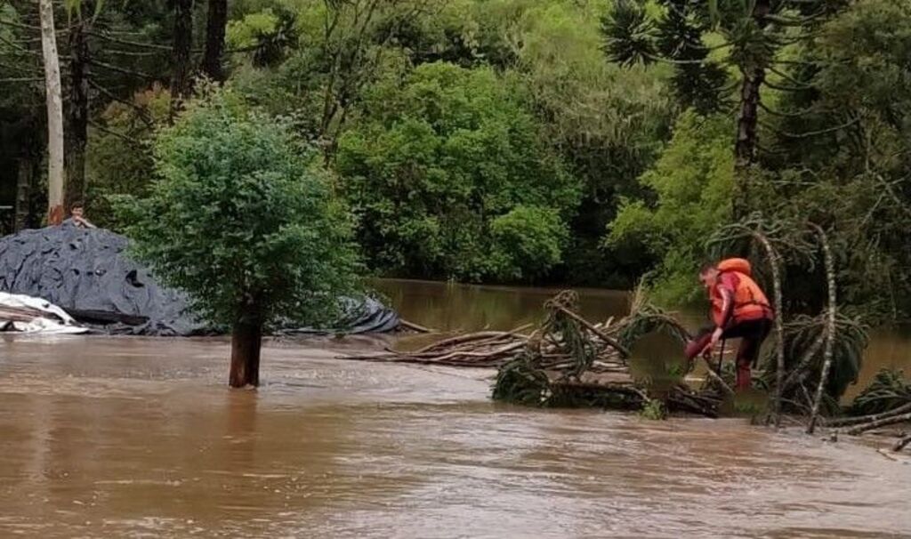
[[[189,310],[187,296],[160,286],[151,272],[129,259],[128,239],[110,230],[72,225],[28,229],[0,239],[0,290],[41,298],[74,318],[111,333],[185,336],[213,332]],[[398,315],[370,298],[343,300],[343,320],[332,330],[281,332],[363,333],[392,331]]]

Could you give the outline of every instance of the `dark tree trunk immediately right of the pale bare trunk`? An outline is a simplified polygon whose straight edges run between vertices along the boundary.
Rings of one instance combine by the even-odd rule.
[[[89,2],[82,9],[91,9]],[[67,186],[64,193],[66,208],[86,195],[86,145],[88,140],[88,19],[77,13],[76,24],[69,28],[69,107],[67,107],[67,133],[65,164]]]

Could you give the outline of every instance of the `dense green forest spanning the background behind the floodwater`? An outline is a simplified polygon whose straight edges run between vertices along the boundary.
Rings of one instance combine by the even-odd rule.
[[[844,304],[911,312],[906,0],[67,0],[56,39],[66,198],[111,229],[210,80],[288,126],[376,275],[680,303],[759,216],[826,230]],[[36,3],[0,2],[7,229],[45,218],[46,117]]]

